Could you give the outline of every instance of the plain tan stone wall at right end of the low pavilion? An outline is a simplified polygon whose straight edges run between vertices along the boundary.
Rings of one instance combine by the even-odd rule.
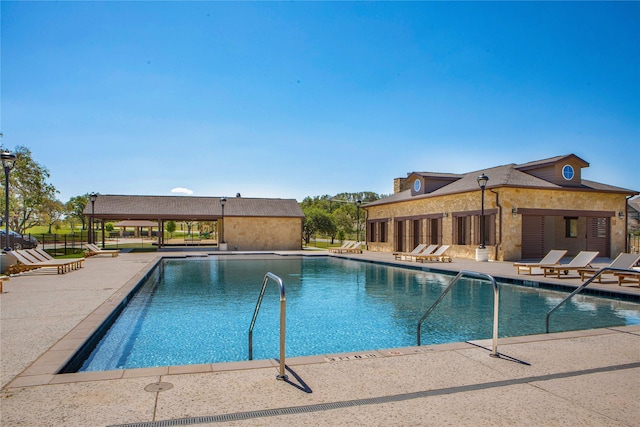
[[[225,216],[224,237],[230,250],[300,250],[302,218]]]

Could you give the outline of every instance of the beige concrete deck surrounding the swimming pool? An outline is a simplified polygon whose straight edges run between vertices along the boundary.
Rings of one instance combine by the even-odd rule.
[[[490,340],[289,358],[288,382],[275,379],[275,360],[55,375],[159,255],[91,257],[78,271],[4,283],[0,425],[640,425],[640,325],[505,338],[501,358],[489,356]],[[510,262],[423,267],[581,283],[517,276]],[[590,287],[640,295],[613,282]]]

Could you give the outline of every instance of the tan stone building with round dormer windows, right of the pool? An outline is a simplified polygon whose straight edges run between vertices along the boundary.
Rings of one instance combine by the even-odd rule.
[[[420,243],[451,245],[449,255],[475,258],[484,191],[485,245],[490,260],[625,251],[627,197],[638,192],[582,179],[589,163],[570,154],[464,174],[412,172],[394,194],[363,205],[367,249],[411,251]]]

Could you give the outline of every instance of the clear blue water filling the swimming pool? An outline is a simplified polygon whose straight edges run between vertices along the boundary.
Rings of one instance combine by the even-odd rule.
[[[248,329],[266,272],[287,298],[287,357],[416,345],[418,319],[452,276],[331,257],[165,259],[80,371],[247,360]],[[544,333],[567,294],[500,285],[501,337]],[[493,289],[465,280],[422,327],[422,344],[490,338]],[[551,332],[640,323],[640,304],[579,295]],[[269,283],[253,332],[253,358],[279,356],[279,291]]]

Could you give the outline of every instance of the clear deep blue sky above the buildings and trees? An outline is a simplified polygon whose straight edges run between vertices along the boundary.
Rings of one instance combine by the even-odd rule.
[[[640,190],[639,2],[0,8],[2,143],[63,202],[390,194],[571,153]]]

